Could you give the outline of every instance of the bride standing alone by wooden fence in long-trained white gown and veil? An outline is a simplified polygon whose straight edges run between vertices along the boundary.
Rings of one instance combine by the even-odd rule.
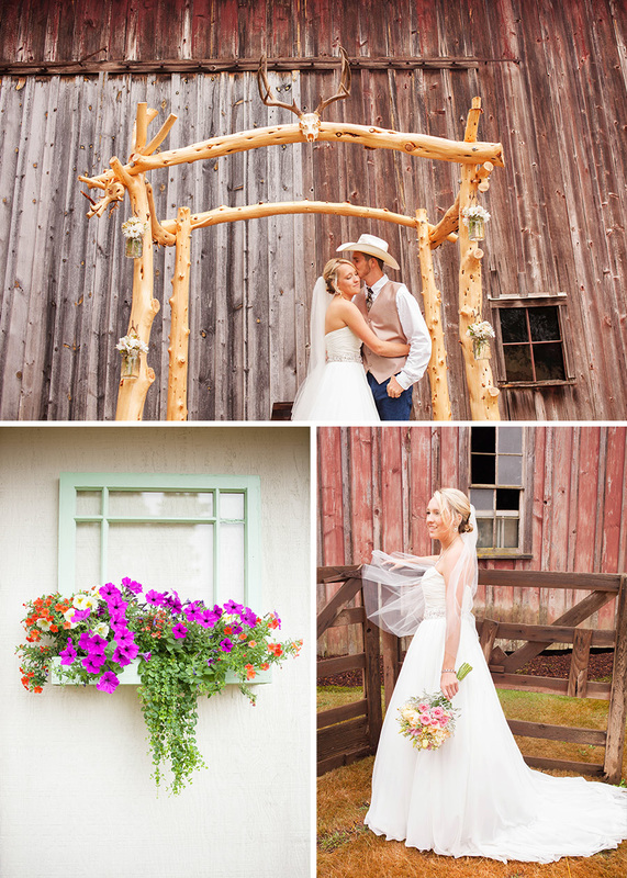
[[[436,492],[427,527],[440,554],[376,552],[363,571],[368,617],[399,637],[416,632],[385,714],[365,822],[389,841],[455,857],[550,863],[617,847],[627,838],[627,790],[530,769],[510,731],[470,611],[473,511],[461,492]],[[463,662],[472,672],[458,683]],[[419,752],[399,733],[398,708],[440,689],[460,708],[455,733]]]

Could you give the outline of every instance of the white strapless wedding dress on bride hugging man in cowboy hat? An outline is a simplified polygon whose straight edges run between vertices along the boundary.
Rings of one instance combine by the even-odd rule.
[[[348,327],[325,336],[326,362],[310,373],[292,410],[292,420],[371,424],[379,413],[361,362],[361,341]]]

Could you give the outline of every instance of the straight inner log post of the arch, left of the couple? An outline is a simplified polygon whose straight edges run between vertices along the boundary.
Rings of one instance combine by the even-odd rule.
[[[189,207],[179,207],[177,219],[177,254],[172,278],[172,309],[170,329],[170,368],[168,374],[168,420],[187,420],[187,386],[189,364],[189,281],[191,250],[191,216]]]

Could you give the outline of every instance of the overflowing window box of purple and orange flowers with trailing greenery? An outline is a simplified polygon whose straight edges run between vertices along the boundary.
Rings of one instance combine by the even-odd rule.
[[[302,641],[275,640],[276,612],[257,614],[227,600],[206,606],[176,592],[147,590],[128,578],[24,605],[26,643],[18,646],[22,684],[91,685],[111,694],[138,686],[157,787],[163,765],[178,793],[205,763],[195,741],[198,698],[236,685],[255,703],[251,686],[270,682],[273,664],[298,655]],[[63,663],[63,664],[61,664]]]

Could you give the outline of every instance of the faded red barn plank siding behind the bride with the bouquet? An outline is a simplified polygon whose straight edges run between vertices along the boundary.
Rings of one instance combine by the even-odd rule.
[[[361,564],[372,549],[430,554],[426,505],[438,487],[468,489],[469,439],[468,426],[321,427],[317,564]],[[531,558],[484,559],[480,565],[625,571],[627,427],[529,426],[525,443],[531,461],[525,485],[533,498]],[[320,606],[329,597],[321,586]],[[501,621],[549,624],[579,599],[581,593],[578,597],[570,589],[485,586],[477,606],[480,616]],[[613,628],[614,614],[612,601],[591,617],[591,623]],[[342,652],[346,644],[333,641],[333,635],[327,632],[328,651]]]

